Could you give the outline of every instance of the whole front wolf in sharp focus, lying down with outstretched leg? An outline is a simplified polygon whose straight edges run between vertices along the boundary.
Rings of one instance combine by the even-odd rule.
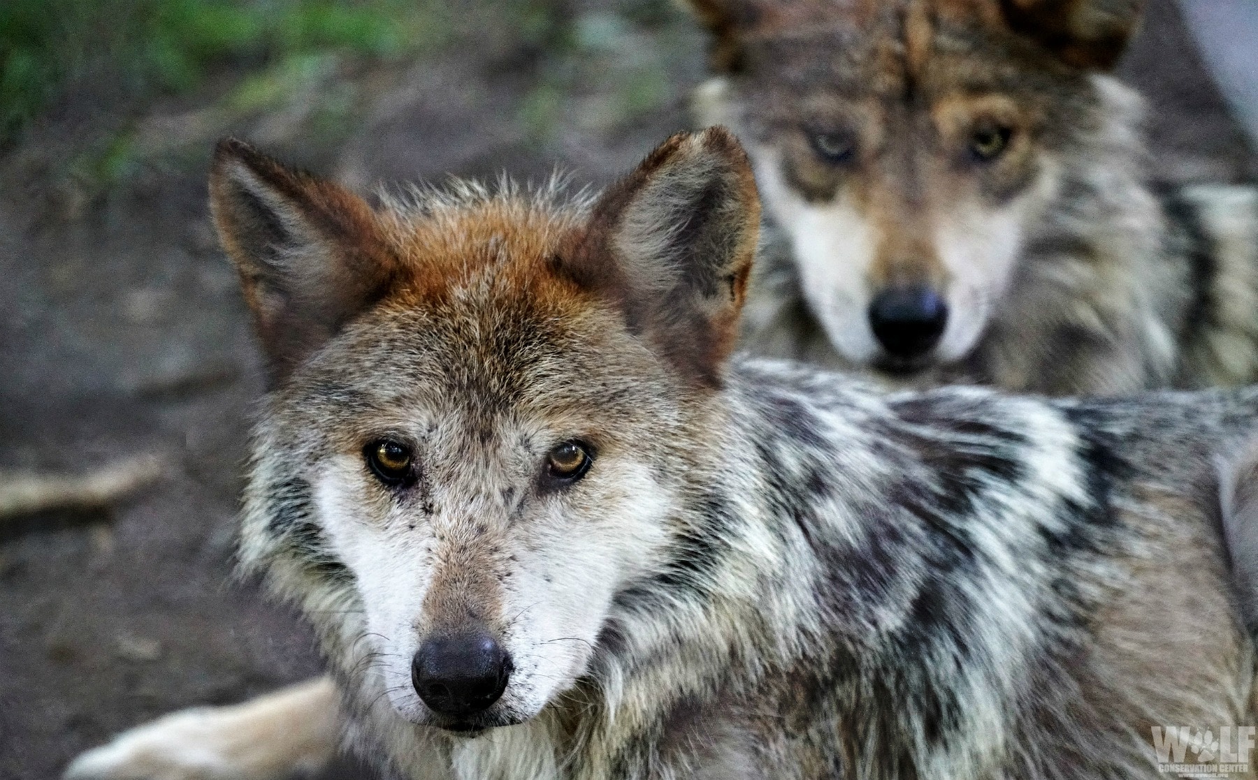
[[[406,777],[1155,777],[1152,727],[1253,723],[1225,475],[1253,479],[1258,391],[884,396],[730,359],[759,202],[721,129],[593,203],[380,211],[225,142],[213,202],[274,378],[242,560],[336,682],[70,776],[276,776],[343,718]]]

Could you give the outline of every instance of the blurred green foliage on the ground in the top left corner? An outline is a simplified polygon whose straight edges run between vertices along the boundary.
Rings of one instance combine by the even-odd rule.
[[[127,94],[184,93],[220,67],[274,74],[331,53],[403,57],[438,43],[442,18],[425,0],[0,0],[0,143],[86,72]]]

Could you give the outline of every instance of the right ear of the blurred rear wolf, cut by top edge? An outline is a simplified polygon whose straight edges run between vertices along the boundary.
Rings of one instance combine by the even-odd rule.
[[[1068,65],[1108,69],[1136,31],[1145,0],[1001,0],[1010,29]]]

